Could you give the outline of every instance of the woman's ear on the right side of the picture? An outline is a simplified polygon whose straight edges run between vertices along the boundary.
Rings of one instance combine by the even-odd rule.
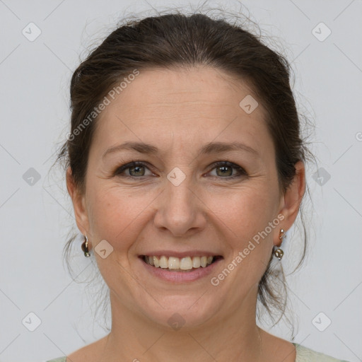
[[[284,215],[284,219],[281,223],[281,228],[288,230],[296,221],[298,216],[300,202],[302,202],[305,192],[305,166],[302,161],[298,161],[294,167],[296,168],[296,175],[288,186],[286,192],[281,197],[281,206],[279,208],[279,214]],[[280,240],[274,241],[274,245],[279,246]]]

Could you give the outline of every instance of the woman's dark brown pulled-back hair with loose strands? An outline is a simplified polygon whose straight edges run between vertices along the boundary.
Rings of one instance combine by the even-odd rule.
[[[71,134],[103,100],[107,92],[134,69],[211,66],[247,81],[258,102],[267,110],[267,127],[274,141],[276,167],[281,191],[285,192],[296,175],[294,165],[310,153],[300,136],[300,117],[296,110],[289,76],[291,67],[281,54],[273,51],[242,26],[202,13],[186,16],[169,13],[129,21],[119,26],[88,55],[71,78]],[[70,166],[76,187],[85,189],[88,151],[97,118],[77,136],[65,142],[58,160]],[[303,223],[303,256],[306,236]],[[69,252],[74,235],[64,247]],[[272,316],[272,307],[284,315],[286,288],[284,272],[267,269],[259,282],[258,300]],[[281,280],[279,276],[281,275]],[[281,281],[284,292],[277,286]],[[280,319],[280,318],[279,318]]]

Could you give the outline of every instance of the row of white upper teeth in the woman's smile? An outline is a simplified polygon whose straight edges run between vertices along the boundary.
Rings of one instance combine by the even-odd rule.
[[[189,270],[192,268],[206,267],[211,264],[214,257],[156,257],[146,255],[145,260],[148,264],[153,265],[154,267],[163,268],[163,269],[182,269]]]

